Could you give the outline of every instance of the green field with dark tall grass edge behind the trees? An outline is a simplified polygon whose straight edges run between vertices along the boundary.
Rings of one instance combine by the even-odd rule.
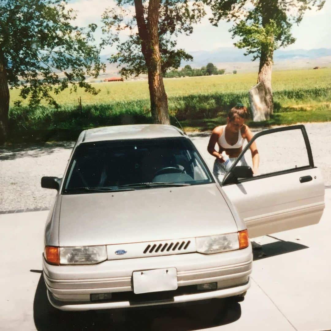
[[[177,119],[188,130],[206,130],[226,121],[226,112],[237,102],[249,106],[247,91],[255,85],[257,73],[164,79],[171,122]],[[274,114],[269,121],[251,126],[281,125],[331,120],[331,68],[274,71]],[[147,80],[94,83],[96,96],[82,89],[55,96],[60,108],[43,103],[30,109],[25,100],[14,107],[18,90],[11,90],[10,127],[12,135],[40,130],[71,130],[150,122]],[[78,107],[81,97],[82,108]],[[174,118],[176,117],[176,119]],[[35,136],[35,134],[33,134]]]

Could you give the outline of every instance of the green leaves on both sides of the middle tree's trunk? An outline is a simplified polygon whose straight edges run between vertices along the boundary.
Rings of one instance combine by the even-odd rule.
[[[104,24],[102,45],[116,45],[117,53],[111,56],[109,61],[118,64],[119,73],[122,76],[127,78],[147,73],[141,38],[136,28],[135,12],[127,6],[133,5],[133,1],[117,0],[117,4],[116,8],[107,9],[102,16]],[[147,6],[148,3],[144,7],[145,23],[147,23],[148,16]],[[183,49],[176,48],[176,37],[180,33],[191,34],[193,24],[199,23],[205,14],[201,1],[161,0],[158,34],[162,74],[169,69],[177,69],[182,60],[193,59]],[[128,34],[124,40],[120,34],[122,31],[126,31]]]

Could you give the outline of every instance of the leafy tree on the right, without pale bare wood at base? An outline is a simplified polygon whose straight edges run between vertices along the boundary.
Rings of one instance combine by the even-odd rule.
[[[273,112],[271,72],[273,52],[295,42],[292,24],[302,21],[306,10],[320,10],[325,0],[203,0],[213,12],[213,25],[222,19],[234,21],[230,29],[234,43],[252,54],[253,61],[260,59],[258,83],[262,84],[262,98],[267,106],[267,116]]]

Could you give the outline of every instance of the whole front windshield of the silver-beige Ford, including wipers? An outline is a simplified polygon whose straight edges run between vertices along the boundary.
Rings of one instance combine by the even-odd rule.
[[[63,194],[149,189],[213,182],[193,143],[184,137],[80,144]],[[153,183],[153,184],[151,184]]]

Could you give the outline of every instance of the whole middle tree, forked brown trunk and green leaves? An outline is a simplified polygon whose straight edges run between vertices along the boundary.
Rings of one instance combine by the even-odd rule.
[[[153,122],[168,124],[168,101],[162,77],[168,69],[177,69],[181,60],[193,59],[183,49],[176,49],[175,38],[179,33],[192,33],[192,24],[205,15],[203,4],[189,0],[116,2],[117,8],[107,9],[103,14],[103,32],[107,36],[103,45],[116,45],[118,51],[110,62],[118,63],[119,72],[125,77],[148,74]],[[134,6],[134,12],[130,6]],[[120,35],[123,30],[129,31],[125,41]]]

